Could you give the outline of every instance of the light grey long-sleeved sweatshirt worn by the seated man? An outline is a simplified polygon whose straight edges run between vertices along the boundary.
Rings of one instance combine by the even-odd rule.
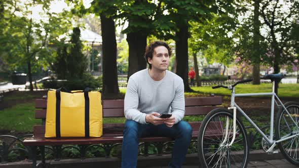
[[[130,76],[125,96],[125,117],[144,124],[145,115],[152,112],[172,113],[175,123],[184,117],[181,77],[166,70],[163,79],[155,81],[149,76],[147,68]]]

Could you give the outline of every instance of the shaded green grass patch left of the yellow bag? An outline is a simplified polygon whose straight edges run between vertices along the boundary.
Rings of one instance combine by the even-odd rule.
[[[32,132],[35,124],[41,124],[34,118],[34,103],[23,103],[0,111],[0,130]]]

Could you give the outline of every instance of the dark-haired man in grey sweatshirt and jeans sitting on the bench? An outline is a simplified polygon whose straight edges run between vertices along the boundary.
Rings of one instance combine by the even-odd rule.
[[[175,140],[169,167],[181,167],[191,142],[192,128],[182,121],[184,85],[168,71],[170,47],[162,41],[148,45],[144,58],[149,68],[130,76],[125,96],[125,130],[122,167],[136,167],[138,138],[168,137]],[[161,114],[171,113],[171,116]]]

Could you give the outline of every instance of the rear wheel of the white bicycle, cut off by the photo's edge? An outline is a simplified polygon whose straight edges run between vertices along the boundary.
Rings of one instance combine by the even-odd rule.
[[[276,117],[275,132],[277,140],[299,134],[299,103],[287,102]],[[299,136],[278,143],[280,152],[292,164],[299,165]]]

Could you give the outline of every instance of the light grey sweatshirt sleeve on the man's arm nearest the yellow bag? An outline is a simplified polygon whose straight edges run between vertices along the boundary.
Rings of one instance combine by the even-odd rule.
[[[138,86],[136,82],[130,77],[127,85],[126,95],[125,95],[125,117],[127,119],[134,120],[141,124],[145,124],[145,113],[138,110]]]

